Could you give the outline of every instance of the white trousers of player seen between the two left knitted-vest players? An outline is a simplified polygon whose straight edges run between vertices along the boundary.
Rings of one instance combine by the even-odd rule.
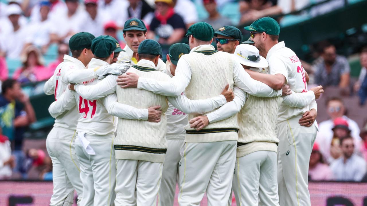
[[[173,206],[176,184],[179,182],[178,167],[181,160],[180,150],[185,139],[167,139],[167,153],[164,158],[162,182],[158,192],[159,206]],[[179,185],[178,185],[179,186]]]

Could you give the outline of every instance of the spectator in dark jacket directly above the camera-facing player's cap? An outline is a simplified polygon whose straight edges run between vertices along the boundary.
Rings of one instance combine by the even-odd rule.
[[[127,19],[138,18],[143,20],[145,25],[150,25],[154,17],[154,8],[146,3],[145,0],[128,1],[130,5],[127,7]]]

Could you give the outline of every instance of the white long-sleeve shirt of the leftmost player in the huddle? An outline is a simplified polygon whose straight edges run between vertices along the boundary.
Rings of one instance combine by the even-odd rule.
[[[69,55],[64,55],[64,61],[61,62],[55,69],[55,73],[46,81],[43,91],[47,95],[54,95],[55,100],[59,99],[63,92],[68,87],[69,74],[77,73],[79,71],[85,70],[84,64],[76,58]],[[75,82],[82,82],[85,80],[85,76],[79,76],[75,79]],[[94,77],[92,77],[94,78]],[[91,78],[88,78],[91,79]],[[64,110],[64,113],[57,116],[55,119],[55,127],[61,127],[65,129],[75,130],[78,117],[77,117],[76,106],[69,108],[69,110]]]

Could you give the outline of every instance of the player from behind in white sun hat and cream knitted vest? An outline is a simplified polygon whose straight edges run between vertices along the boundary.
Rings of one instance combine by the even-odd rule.
[[[247,70],[262,73],[263,76],[265,74],[266,77],[269,76],[275,80],[282,75],[282,71],[276,70],[276,67],[270,67],[267,71],[268,62],[259,55],[258,49],[252,45],[238,45],[234,56]],[[284,82],[274,81],[270,85],[281,92],[282,84]],[[204,125],[199,120],[202,117],[196,117],[189,122],[193,128],[200,129],[206,126],[207,122],[217,122],[239,112],[237,119],[240,131],[232,184],[237,205],[255,206],[261,202],[261,205],[264,206],[279,206],[276,172],[279,140],[276,136],[276,124],[282,98],[258,98],[238,91],[236,88],[234,92],[235,99],[207,114]],[[315,99],[316,93],[320,93],[319,87],[312,88],[312,91],[306,93],[292,93],[289,98],[287,96],[284,99],[284,102],[298,103],[301,99],[299,96],[303,96],[301,99],[304,100],[303,104],[308,105]],[[232,196],[230,196],[231,202]]]

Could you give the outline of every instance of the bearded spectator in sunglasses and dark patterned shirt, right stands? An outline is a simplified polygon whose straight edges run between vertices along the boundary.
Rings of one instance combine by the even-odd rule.
[[[348,60],[344,56],[337,55],[336,48],[332,44],[324,46],[321,57],[322,60],[314,65],[316,84],[323,87],[348,87],[350,79]]]

